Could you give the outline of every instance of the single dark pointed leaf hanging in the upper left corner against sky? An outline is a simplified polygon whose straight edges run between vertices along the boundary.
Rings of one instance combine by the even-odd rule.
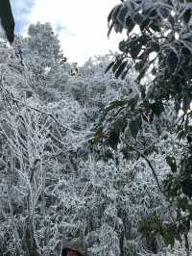
[[[10,0],[0,0],[0,18],[6,36],[9,42],[12,43],[14,40],[14,18]]]

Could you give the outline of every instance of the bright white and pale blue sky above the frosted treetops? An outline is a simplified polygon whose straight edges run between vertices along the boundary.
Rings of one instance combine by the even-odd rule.
[[[29,24],[49,21],[59,35],[69,62],[84,62],[91,56],[118,49],[121,35],[108,39],[107,17],[119,0],[11,0],[16,33],[25,35]]]

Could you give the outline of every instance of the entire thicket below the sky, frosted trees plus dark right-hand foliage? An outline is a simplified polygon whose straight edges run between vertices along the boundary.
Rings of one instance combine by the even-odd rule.
[[[192,6],[121,2],[116,56],[69,64],[48,23],[0,41],[2,255],[190,255]]]

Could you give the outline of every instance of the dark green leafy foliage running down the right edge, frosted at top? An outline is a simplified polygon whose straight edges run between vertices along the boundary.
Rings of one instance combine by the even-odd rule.
[[[108,69],[111,68],[116,77],[121,74],[123,77],[128,66],[125,62],[129,60],[138,72],[136,83],[140,90],[139,100],[135,101],[133,107],[128,104],[127,108],[127,115],[131,118],[129,129],[132,138],[136,139],[138,131],[142,130],[142,119],[147,122],[149,115],[160,117],[166,112],[165,107],[170,99],[175,103],[173,112],[179,113],[182,108],[183,114],[173,131],[180,140],[187,141],[188,145],[183,146],[184,153],[179,162],[174,155],[166,156],[171,173],[162,182],[164,195],[171,205],[174,203],[176,206],[178,217],[173,223],[167,224],[157,217],[146,219],[140,223],[140,232],[152,240],[156,234],[160,234],[164,243],[171,246],[174,246],[176,240],[181,241],[181,236],[184,235],[186,248],[192,219],[192,207],[189,203],[189,198],[192,197],[191,18],[191,1],[180,0],[128,0],[115,7],[108,15],[108,33],[112,28],[116,32],[121,32],[124,28],[128,36],[120,41],[121,55]],[[117,30],[118,26],[121,29]],[[134,33],[132,30],[136,26],[139,29]],[[149,71],[153,77],[147,84],[143,78]],[[149,123],[153,123],[153,118]],[[118,140],[115,141],[115,147]],[[187,213],[184,218],[180,215],[182,211]]]

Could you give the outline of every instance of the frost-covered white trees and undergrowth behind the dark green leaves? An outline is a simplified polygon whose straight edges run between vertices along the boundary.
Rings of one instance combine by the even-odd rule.
[[[150,167],[129,148],[92,144],[103,108],[136,92],[133,71],[124,81],[105,75],[108,54],[71,75],[47,23],[31,25],[13,48],[1,42],[0,53],[0,254],[60,255],[74,240],[88,256],[160,251],[160,238],[142,240],[137,230],[144,218],[174,215]],[[169,113],[164,120],[158,129]],[[180,143],[171,132],[159,138],[156,123],[136,146],[153,144],[148,157],[161,179],[162,155],[180,156]]]

